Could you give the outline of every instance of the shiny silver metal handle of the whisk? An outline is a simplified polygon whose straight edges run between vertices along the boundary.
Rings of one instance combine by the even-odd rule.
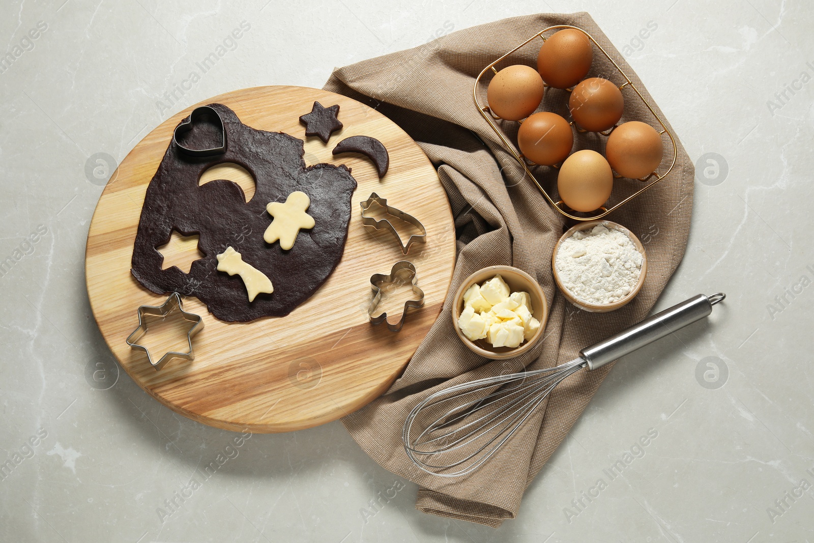
[[[582,349],[580,357],[588,362],[589,370],[595,370],[610,361],[632,353],[637,348],[653,343],[656,339],[670,335],[679,328],[707,317],[712,313],[712,306],[724,300],[724,297],[726,295],[722,292],[708,297],[703,294],[693,296],[681,304],[673,305],[671,308],[646,318],[613,337]]]

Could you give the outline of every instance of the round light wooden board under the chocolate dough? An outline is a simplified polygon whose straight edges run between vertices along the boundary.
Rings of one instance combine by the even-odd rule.
[[[344,128],[327,143],[315,136],[306,138],[299,121],[301,115],[311,112],[314,101],[340,107]],[[287,317],[221,322],[198,299],[185,296],[184,309],[204,320],[204,330],[192,339],[194,361],[173,360],[156,371],[146,354],[129,348],[125,338],[138,326],[138,307],[159,305],[167,298],[147,291],[133,278],[130,259],[147,185],[173,129],[194,109],[190,107],[164,121],[130,151],[96,206],[85,249],[85,277],[99,329],[136,383],[170,409],[201,423],[268,433],[344,417],[387,390],[444,303],[455,262],[455,232],[435,168],[391,120],[339,94],[267,86],[221,94],[195,107],[206,103],[225,104],[255,129],[303,139],[307,165],[326,162],[352,169],[358,187],[342,260],[322,287]],[[363,155],[331,155],[339,141],[354,135],[372,136],[387,148],[390,169],[382,179]],[[233,180],[245,188],[245,183]],[[422,221],[427,243],[414,244],[404,256],[390,234],[362,226],[359,203],[372,192]],[[166,265],[172,255],[163,248],[161,252]],[[387,326],[370,324],[370,276],[389,274],[400,260],[414,263],[418,286],[426,297],[421,309],[409,309],[404,328],[392,332]],[[398,320],[405,301],[398,294],[393,292],[383,300],[391,322]],[[398,308],[396,314],[391,313],[393,308]],[[186,337],[182,339],[186,341]]]

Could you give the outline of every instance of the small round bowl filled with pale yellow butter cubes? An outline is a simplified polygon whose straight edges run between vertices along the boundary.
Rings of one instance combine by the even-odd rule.
[[[540,339],[548,306],[531,275],[512,266],[489,266],[458,287],[452,317],[466,347],[502,360],[519,357]]]

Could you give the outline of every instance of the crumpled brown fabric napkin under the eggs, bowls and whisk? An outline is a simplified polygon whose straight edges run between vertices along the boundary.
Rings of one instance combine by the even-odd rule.
[[[610,365],[580,370],[563,381],[494,457],[465,477],[441,478],[418,470],[401,442],[405,417],[414,405],[441,388],[519,371],[523,366],[540,369],[570,361],[581,348],[646,317],[684,255],[693,202],[694,167],[676,138],[678,152],[672,172],[608,217],[627,226],[645,244],[647,277],[639,295],[612,313],[586,313],[563,299],[552,278],[551,255],[562,235],[564,217],[524,177],[523,169],[502,147],[472,100],[475,77],[488,63],[556,24],[570,24],[591,34],[664,118],[623,56],[587,13],[527,15],[466,28],[411,50],[338,68],[325,85],[326,90],[376,107],[418,142],[438,169],[457,229],[457,264],[437,322],[392,387],[343,418],[343,423],[371,458],[420,485],[419,510],[495,528],[503,519],[517,515],[523,492],[565,439]],[[536,66],[537,50],[530,44],[507,64]],[[589,77],[613,79],[611,74],[616,74],[613,65],[595,51]],[[567,115],[565,92],[547,90],[545,100]],[[637,97],[625,104],[623,121],[627,120],[659,126]],[[516,141],[517,123],[500,124],[510,141]],[[603,151],[603,136],[577,134],[576,139],[579,148]],[[672,147],[665,157],[672,159]],[[543,181],[555,184],[556,173],[547,175]],[[637,185],[627,180],[617,183],[627,184],[631,190]],[[540,282],[549,302],[549,319],[544,338],[529,353],[509,361],[489,361],[471,353],[457,338],[450,306],[454,291],[468,275],[484,266],[507,264]]]

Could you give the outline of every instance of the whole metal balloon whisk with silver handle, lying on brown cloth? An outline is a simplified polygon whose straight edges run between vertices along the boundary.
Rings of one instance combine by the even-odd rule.
[[[722,292],[694,296],[584,348],[579,357],[553,368],[477,379],[435,392],[405,420],[401,439],[407,456],[423,471],[441,477],[475,471],[569,375],[584,367],[595,370],[707,317],[712,306],[725,297]]]

